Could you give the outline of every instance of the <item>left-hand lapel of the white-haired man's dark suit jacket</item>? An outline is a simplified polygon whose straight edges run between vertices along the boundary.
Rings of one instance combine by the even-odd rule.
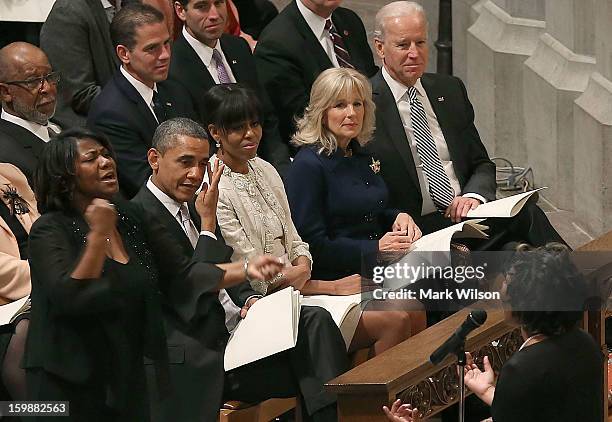
[[[412,150],[408,145],[404,124],[402,123],[402,118],[400,117],[391,89],[382,77],[381,71],[378,71],[372,78],[372,82],[372,94],[374,96],[374,102],[376,103],[376,117],[380,120],[380,122],[376,124],[378,127],[377,130],[387,131],[389,135],[388,138],[393,143],[400,157],[402,157],[402,161],[412,181],[415,186],[419,186],[419,177],[414,165]]]

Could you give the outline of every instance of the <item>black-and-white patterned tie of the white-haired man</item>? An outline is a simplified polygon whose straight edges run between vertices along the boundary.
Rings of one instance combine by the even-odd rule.
[[[423,171],[425,176],[427,176],[429,194],[438,211],[444,212],[453,201],[455,193],[450,185],[448,175],[444,172],[442,161],[438,156],[436,143],[427,123],[425,109],[417,98],[417,90],[413,86],[408,88],[408,99],[410,102],[412,130],[417,152],[423,164]]]

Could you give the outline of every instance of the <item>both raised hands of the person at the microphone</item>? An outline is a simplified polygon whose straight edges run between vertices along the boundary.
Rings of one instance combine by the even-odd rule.
[[[489,357],[483,359],[483,368],[481,371],[478,365],[474,363],[474,358],[469,352],[466,352],[467,363],[463,370],[463,379],[465,386],[478,396],[483,402],[489,406],[493,403],[495,395],[495,373],[491,367]],[[383,406],[383,412],[387,415],[387,419],[391,422],[418,422],[421,420],[421,413],[417,408],[406,403],[402,404],[400,399],[397,399],[391,405],[391,409]]]

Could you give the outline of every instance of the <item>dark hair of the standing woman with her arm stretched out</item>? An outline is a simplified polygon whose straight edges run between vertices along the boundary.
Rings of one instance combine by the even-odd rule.
[[[73,128],[62,132],[44,148],[34,172],[34,194],[38,212],[69,211],[76,188],[77,143],[93,139],[106,148],[113,159],[113,148],[102,134],[87,129]]]

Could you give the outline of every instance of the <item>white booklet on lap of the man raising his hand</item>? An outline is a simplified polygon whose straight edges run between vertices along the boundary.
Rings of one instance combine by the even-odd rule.
[[[226,371],[295,347],[300,293],[293,287],[259,299],[238,323],[225,348]]]

